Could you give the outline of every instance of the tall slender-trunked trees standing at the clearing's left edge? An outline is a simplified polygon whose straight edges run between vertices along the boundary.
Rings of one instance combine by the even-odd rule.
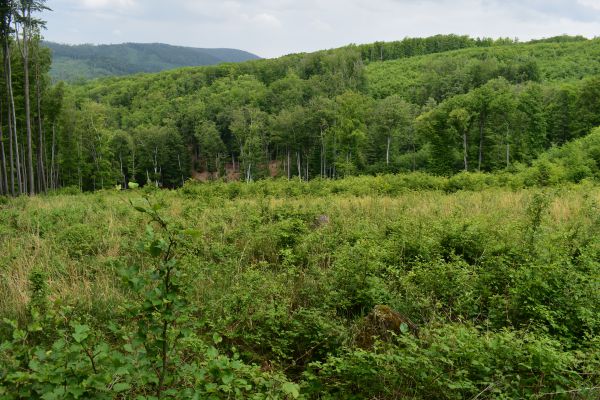
[[[58,187],[55,122],[62,86],[51,88],[51,57],[40,46],[45,0],[0,4],[0,195]]]

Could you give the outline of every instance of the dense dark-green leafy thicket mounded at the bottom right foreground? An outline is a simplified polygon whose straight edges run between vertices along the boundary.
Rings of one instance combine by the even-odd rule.
[[[456,325],[422,336],[311,364],[307,391],[319,398],[504,399],[566,395],[579,384],[573,357],[548,338]],[[595,390],[577,392],[591,399]]]

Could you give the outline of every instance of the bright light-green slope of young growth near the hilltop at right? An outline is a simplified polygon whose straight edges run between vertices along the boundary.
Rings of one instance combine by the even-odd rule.
[[[498,76],[549,83],[600,73],[600,40],[553,39],[373,62],[367,67],[369,92],[377,98],[400,93],[415,102],[427,96],[440,101]]]

